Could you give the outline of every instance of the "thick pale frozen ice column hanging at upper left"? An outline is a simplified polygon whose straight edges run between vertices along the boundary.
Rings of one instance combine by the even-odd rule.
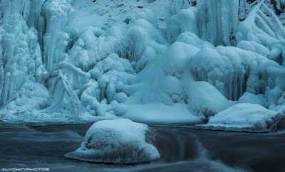
[[[43,36],[43,63],[47,70],[55,63],[68,58],[66,47],[69,41],[69,20],[73,9],[68,1],[48,0],[43,4],[46,18],[46,33]]]

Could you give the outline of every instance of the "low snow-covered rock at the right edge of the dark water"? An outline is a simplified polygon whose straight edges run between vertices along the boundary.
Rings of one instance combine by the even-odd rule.
[[[207,124],[197,124],[198,129],[224,131],[267,132],[276,127],[284,117],[281,112],[271,111],[259,104],[235,104],[214,115]]]

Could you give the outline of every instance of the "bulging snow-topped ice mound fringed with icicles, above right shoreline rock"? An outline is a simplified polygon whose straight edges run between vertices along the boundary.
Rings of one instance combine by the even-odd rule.
[[[196,80],[214,85],[229,100],[238,100],[244,92],[264,94],[269,78],[266,68],[279,68],[277,63],[257,53],[224,47],[205,48],[191,63]]]

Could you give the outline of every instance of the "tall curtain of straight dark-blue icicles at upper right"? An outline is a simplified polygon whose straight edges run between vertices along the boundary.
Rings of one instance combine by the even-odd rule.
[[[214,45],[235,45],[239,1],[202,1],[197,8],[200,38]]]

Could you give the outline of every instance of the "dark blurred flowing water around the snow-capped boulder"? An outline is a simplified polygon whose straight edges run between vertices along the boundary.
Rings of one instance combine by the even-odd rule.
[[[90,124],[0,126],[2,168],[50,171],[285,171],[285,132],[267,134],[152,126],[161,158],[139,165],[88,163],[64,158],[81,145]]]

